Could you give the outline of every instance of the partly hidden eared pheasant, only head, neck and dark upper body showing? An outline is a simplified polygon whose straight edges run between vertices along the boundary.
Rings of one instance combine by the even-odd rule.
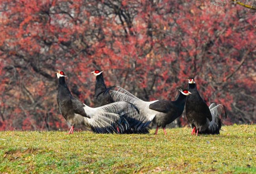
[[[113,103],[113,98],[109,93],[105,94],[107,89],[104,78],[103,71],[95,70],[91,72],[94,76],[96,76],[96,84],[95,84],[95,94],[94,94],[94,107],[104,106],[106,104]]]

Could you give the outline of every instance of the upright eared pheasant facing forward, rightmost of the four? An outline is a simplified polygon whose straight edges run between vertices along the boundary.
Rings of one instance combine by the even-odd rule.
[[[191,95],[186,100],[186,117],[191,126],[191,135],[219,134],[221,130],[221,119],[227,117],[226,106],[212,103],[209,107],[197,91],[195,78],[189,78],[188,90]],[[196,132],[197,131],[197,132]]]

